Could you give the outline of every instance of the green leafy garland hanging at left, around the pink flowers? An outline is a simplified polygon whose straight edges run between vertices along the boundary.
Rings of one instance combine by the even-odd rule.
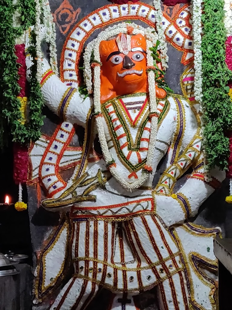
[[[21,14],[21,25],[13,27],[13,15],[18,9]],[[0,148],[6,145],[7,129],[12,140],[27,144],[31,139],[36,140],[41,135],[43,124],[41,108],[43,106],[40,85],[36,80],[36,60],[32,65],[32,76],[29,87],[28,107],[29,122],[21,124],[21,104],[17,99],[20,87],[17,83],[18,66],[15,55],[15,39],[35,24],[34,0],[19,0],[16,5],[12,0],[2,0],[0,5]],[[35,43],[35,36],[32,38]],[[35,51],[30,51],[35,58]],[[9,124],[9,126],[7,126]]]

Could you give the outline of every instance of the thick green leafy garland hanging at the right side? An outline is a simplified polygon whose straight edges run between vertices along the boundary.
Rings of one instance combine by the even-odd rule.
[[[218,166],[227,170],[229,139],[225,131],[231,128],[232,123],[232,104],[227,84],[232,79],[232,72],[225,62],[227,35],[223,7],[223,0],[205,0],[201,17],[203,148],[208,169]]]

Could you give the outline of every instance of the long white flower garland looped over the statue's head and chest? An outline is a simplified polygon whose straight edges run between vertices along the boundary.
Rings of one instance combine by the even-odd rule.
[[[153,57],[151,56],[150,47],[156,44],[158,36],[157,33],[153,33],[153,29],[151,28],[143,28],[140,25],[131,23],[130,26],[134,28],[132,34],[142,34],[146,39],[146,51],[147,51],[147,66],[153,66]],[[92,92],[92,74],[91,74],[91,64],[90,58],[92,55],[92,51],[94,53],[94,60],[97,64],[101,62],[100,52],[99,52],[99,45],[100,42],[103,40],[108,40],[111,37],[118,35],[119,33],[127,33],[127,23],[121,23],[114,25],[112,27],[107,28],[106,30],[102,31],[95,40],[90,42],[85,49],[84,52],[84,78],[87,85],[87,89],[89,92]],[[127,190],[133,190],[139,188],[144,182],[148,179],[149,172],[147,170],[143,170],[141,177],[136,180],[134,183],[128,183],[122,175],[119,173],[117,167],[113,164],[114,160],[112,158],[112,154],[107,145],[105,131],[104,131],[104,124],[101,115],[101,68],[100,65],[95,65],[93,69],[94,74],[94,87],[93,87],[93,99],[94,99],[94,108],[95,113],[98,114],[96,117],[96,124],[98,129],[99,140],[101,144],[102,153],[105,158],[106,164],[109,164],[109,169],[111,174],[114,178]],[[148,72],[148,90],[149,90],[149,97],[150,97],[150,111],[151,113],[157,113],[157,104],[156,104],[156,90],[155,90],[155,74],[151,70]],[[153,164],[153,156],[155,151],[155,143],[157,137],[157,117],[152,117],[151,119],[151,132],[150,132],[150,141],[148,146],[148,155],[146,160],[146,165],[152,166]],[[110,165],[111,164],[111,165]]]

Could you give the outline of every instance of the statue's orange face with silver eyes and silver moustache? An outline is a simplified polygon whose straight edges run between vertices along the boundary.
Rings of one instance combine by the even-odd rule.
[[[144,36],[131,36],[131,51],[128,53],[127,35],[120,33],[117,38],[100,43],[101,101],[115,95],[146,92],[148,88]]]

